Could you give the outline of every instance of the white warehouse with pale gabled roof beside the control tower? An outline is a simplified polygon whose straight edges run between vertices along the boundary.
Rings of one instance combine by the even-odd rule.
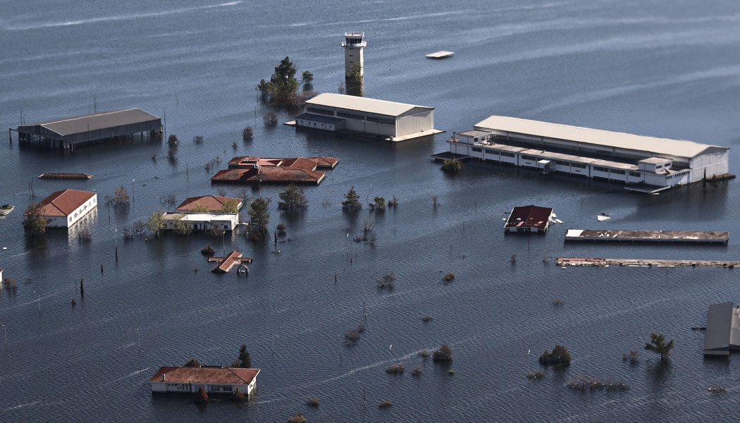
[[[434,107],[323,93],[306,101],[297,127],[403,141],[444,132],[434,129]]]

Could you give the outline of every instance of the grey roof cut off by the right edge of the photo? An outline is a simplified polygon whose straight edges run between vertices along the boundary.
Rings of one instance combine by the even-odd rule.
[[[712,304],[707,311],[704,355],[727,356],[740,347],[739,310],[733,302]]]

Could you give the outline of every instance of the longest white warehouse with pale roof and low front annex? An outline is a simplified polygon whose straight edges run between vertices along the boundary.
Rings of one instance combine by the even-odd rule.
[[[727,147],[506,116],[453,133],[448,142],[452,156],[618,181],[644,193],[731,177]]]

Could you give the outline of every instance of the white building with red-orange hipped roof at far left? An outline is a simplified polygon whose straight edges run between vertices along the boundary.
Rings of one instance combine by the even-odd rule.
[[[38,203],[47,227],[70,227],[98,207],[98,194],[87,191],[57,191]],[[26,212],[24,216],[30,212]]]

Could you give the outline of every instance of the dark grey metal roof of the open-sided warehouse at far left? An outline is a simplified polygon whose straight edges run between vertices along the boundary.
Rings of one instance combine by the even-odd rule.
[[[19,130],[33,130],[33,127],[41,126],[53,133],[57,133],[58,136],[70,136],[76,133],[86,133],[108,127],[118,127],[127,124],[138,124],[159,120],[160,118],[157,116],[141,109],[124,109],[93,113],[92,115],[75,116],[55,121],[24,124],[19,126]]]

